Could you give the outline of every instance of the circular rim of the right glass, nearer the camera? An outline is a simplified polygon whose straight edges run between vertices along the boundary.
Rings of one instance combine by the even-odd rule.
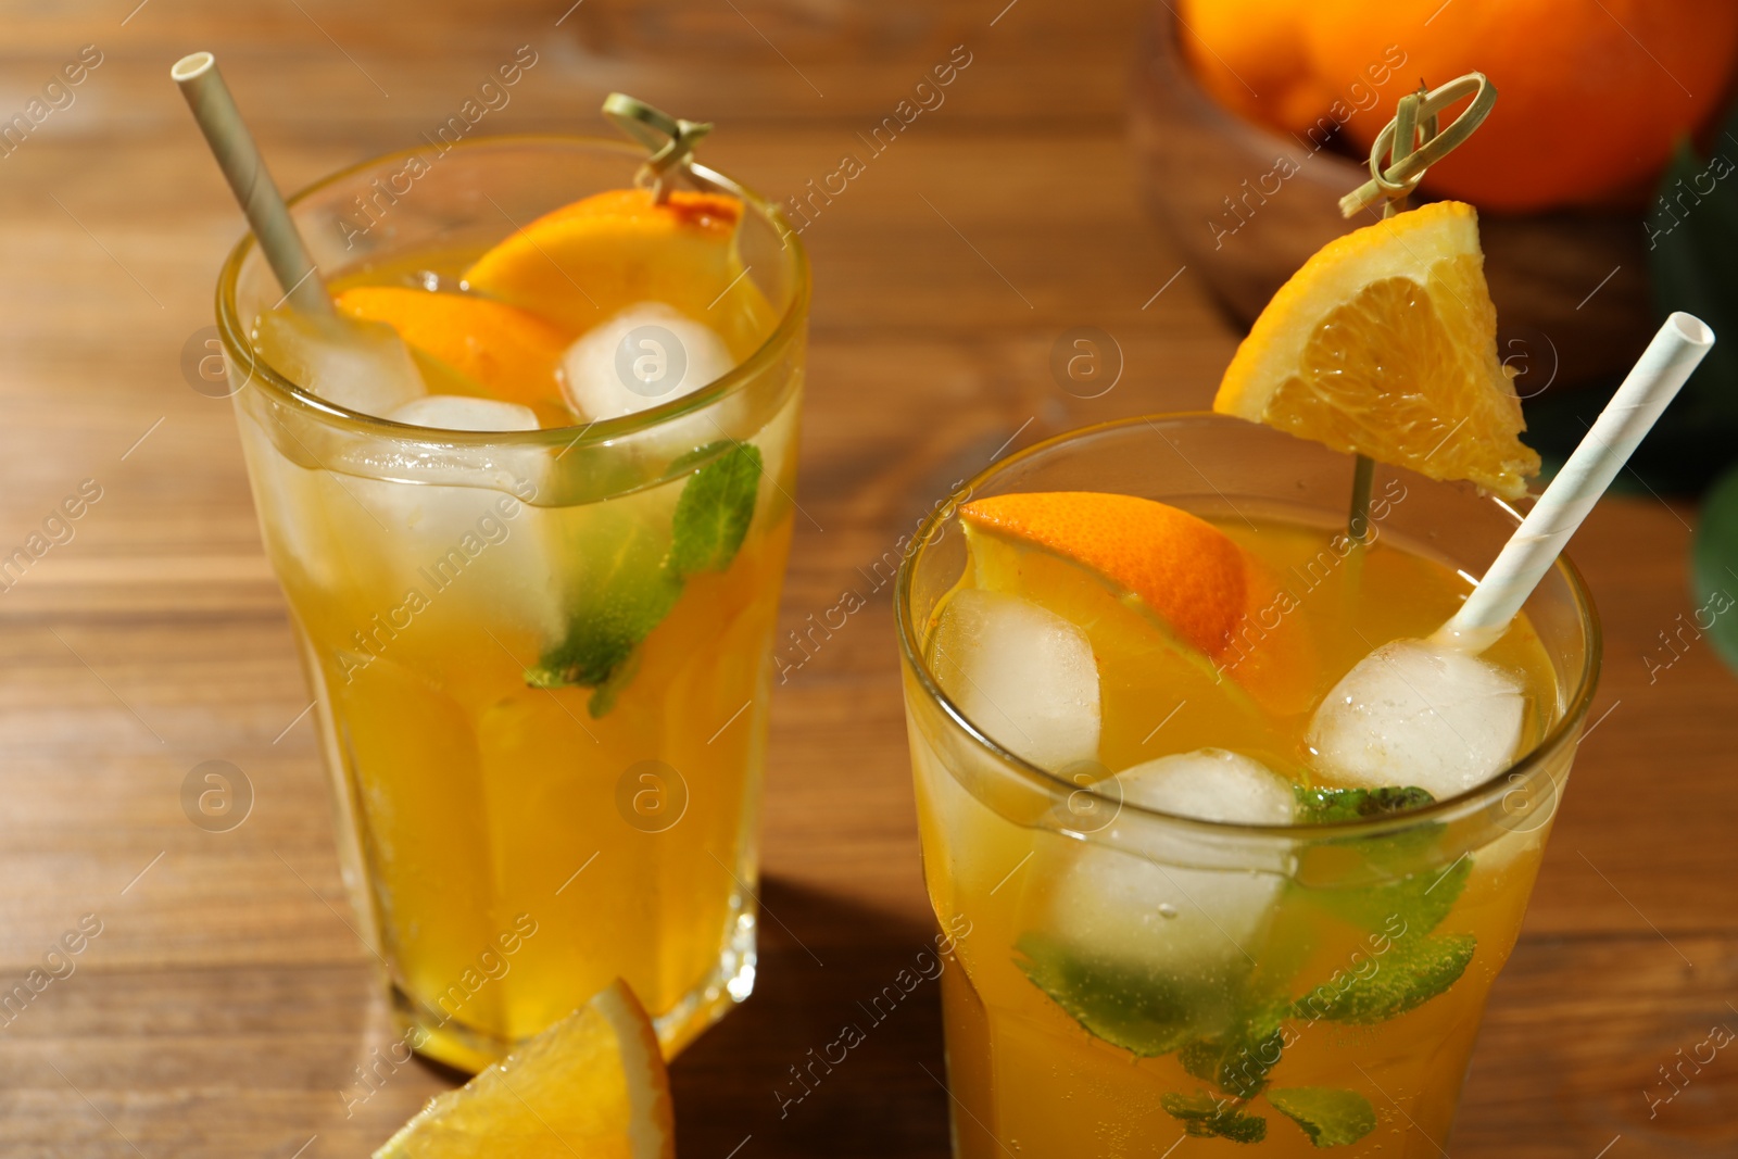
[[[989,464],[970,480],[961,485],[961,492],[970,495],[977,490],[980,483],[1005,473],[1008,467],[1041,455],[1064,443],[1072,443],[1085,440],[1093,434],[1104,434],[1109,431],[1151,426],[1154,424],[1180,424],[1180,422],[1199,422],[1203,419],[1213,422],[1241,422],[1251,429],[1270,431],[1272,434],[1286,434],[1284,431],[1272,431],[1270,427],[1260,427],[1250,424],[1244,419],[1234,419],[1229,415],[1220,415],[1211,410],[1177,410],[1151,415],[1130,415],[1124,419],[1111,419],[1107,422],[1095,422],[1091,426],[1078,427],[1072,431],[1064,431],[1060,434],[1051,434],[1046,440],[1032,443],[1024,450],[1018,450],[1005,459],[998,459]],[[1297,438],[1297,436],[1291,436]],[[1307,440],[1298,440],[1307,441]],[[1319,445],[1317,445],[1319,447]],[[1323,447],[1324,452],[1333,454],[1330,448]],[[1434,480],[1432,480],[1434,481]],[[1446,483],[1444,483],[1446,485]],[[1500,509],[1507,511],[1509,516],[1516,518],[1519,523],[1519,514],[1503,502],[1500,497],[1491,495],[1489,500]],[[1184,813],[1168,813],[1164,810],[1149,808],[1137,805],[1133,801],[1123,801],[1119,796],[1111,796],[1097,791],[1097,784],[1081,785],[1067,780],[1060,773],[1053,773],[1046,768],[1032,765],[1025,758],[1012,752],[1010,749],[998,744],[989,733],[982,732],[977,725],[966,718],[958,704],[947,695],[947,692],[935,681],[930,672],[930,666],[923,660],[923,641],[918,636],[918,624],[912,622],[911,615],[911,589],[914,584],[914,575],[918,572],[918,560],[928,551],[932,539],[940,528],[944,520],[954,518],[954,504],[940,504],[925,516],[923,523],[918,527],[912,542],[918,549],[909,553],[899,566],[899,579],[893,586],[893,615],[899,624],[899,652],[905,666],[916,674],[923,692],[940,705],[942,712],[968,737],[972,745],[1005,768],[1012,768],[1020,773],[1020,777],[1032,785],[1062,794],[1079,794],[1085,792],[1095,801],[1104,801],[1116,810],[1116,815],[1133,813],[1135,817],[1151,818],[1154,822],[1163,822],[1166,825],[1182,825],[1185,829],[1196,829],[1208,834],[1218,836],[1244,836],[1272,839],[1283,838],[1286,841],[1297,841],[1300,838],[1317,839],[1317,838],[1345,838],[1345,836],[1382,836],[1387,832],[1411,829],[1418,824],[1430,824],[1444,820],[1448,817],[1460,817],[1479,808],[1488,806],[1491,801],[1500,799],[1512,791],[1514,777],[1528,775],[1538,770],[1545,761],[1556,756],[1566,744],[1575,738],[1580,730],[1582,721],[1587,719],[1587,711],[1592,705],[1594,688],[1599,683],[1599,667],[1602,660],[1602,631],[1599,626],[1599,613],[1594,608],[1592,593],[1587,589],[1587,582],[1582,579],[1580,570],[1569,561],[1568,553],[1559,554],[1557,561],[1552,565],[1552,572],[1562,575],[1569,586],[1569,594],[1575,599],[1575,608],[1578,613],[1582,639],[1585,641],[1582,655],[1582,671],[1576,676],[1575,688],[1568,697],[1568,707],[1562,716],[1552,725],[1552,728],[1535,744],[1531,749],[1522,752],[1517,759],[1503,766],[1502,770],[1491,773],[1489,778],[1456,792],[1451,798],[1443,798],[1441,801],[1432,801],[1430,805],[1404,810],[1397,813],[1378,813],[1373,817],[1361,817],[1356,820],[1343,822],[1314,822],[1314,824],[1284,824],[1284,825],[1267,825],[1267,824],[1250,824],[1250,822],[1222,822],[1206,820],[1201,817],[1187,817]],[[1549,773],[1545,773],[1549,775]],[[1093,834],[1086,834],[1090,841]]]

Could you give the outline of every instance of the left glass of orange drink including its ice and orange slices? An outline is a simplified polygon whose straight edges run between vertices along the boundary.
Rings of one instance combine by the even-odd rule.
[[[614,978],[666,1053],[754,983],[808,266],[580,137],[419,148],[245,238],[219,332],[344,879],[405,1043],[476,1070]]]

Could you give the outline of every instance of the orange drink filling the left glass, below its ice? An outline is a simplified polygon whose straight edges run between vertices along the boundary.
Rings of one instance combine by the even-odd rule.
[[[395,254],[330,288],[341,308],[355,287],[462,297],[483,248]],[[770,330],[753,299],[753,316],[732,315],[749,301],[737,290],[706,318],[739,363]],[[574,438],[525,454],[440,431],[316,443],[238,396],[353,897],[405,1043],[476,1070],[622,978],[673,1055],[754,982],[801,339],[735,398],[607,447],[580,443],[587,417],[553,367],[502,394],[412,353],[431,393],[530,405]],[[721,488],[732,504],[707,504]],[[706,554],[730,535],[695,527],[707,518],[735,520],[739,542]],[[607,679],[596,648],[615,648]]]

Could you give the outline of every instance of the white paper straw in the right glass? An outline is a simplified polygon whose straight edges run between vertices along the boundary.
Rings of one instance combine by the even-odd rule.
[[[1496,643],[1712,346],[1714,330],[1700,318],[1674,313],[1665,320],[1587,438],[1503,544],[1467,603],[1430,638],[1432,643],[1462,652],[1484,652]]]

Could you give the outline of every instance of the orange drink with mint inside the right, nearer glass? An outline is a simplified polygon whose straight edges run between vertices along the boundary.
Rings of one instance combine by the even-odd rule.
[[[914,622],[930,676],[965,692],[935,653],[959,591],[1018,594],[1083,627],[1098,667],[1098,759],[1051,770],[1064,782],[1217,747],[1290,778],[1300,820],[1305,801],[1357,799],[1309,766],[1310,709],[1375,646],[1429,636],[1470,584],[1394,537],[1352,547],[1239,507],[1253,518],[1213,523],[1272,598],[1218,660],[1184,655],[1100,575],[978,532],[959,586]],[[1561,716],[1552,662],[1524,617],[1486,659],[1524,685],[1526,752]],[[907,704],[921,685],[907,666]],[[1394,813],[1376,836],[1298,824],[1243,843],[1034,794],[919,709],[911,740],[930,900],[968,928],[942,989],[956,1156],[1439,1154],[1549,825]],[[1124,909],[1086,940],[1083,902]]]

